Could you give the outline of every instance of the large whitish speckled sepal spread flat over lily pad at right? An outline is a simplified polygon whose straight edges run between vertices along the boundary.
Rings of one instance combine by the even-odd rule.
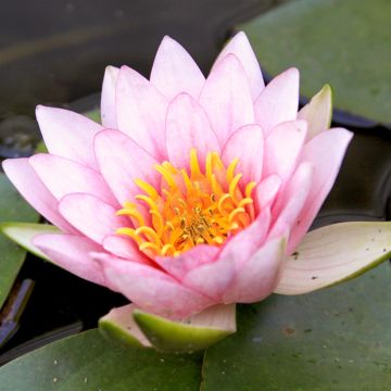
[[[340,223],[308,232],[288,258],[276,289],[301,294],[354,278],[391,255],[391,222]]]

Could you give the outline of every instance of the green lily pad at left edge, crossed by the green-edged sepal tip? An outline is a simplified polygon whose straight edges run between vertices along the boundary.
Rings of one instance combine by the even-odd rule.
[[[0,174],[0,223],[38,220],[35,212],[17,193],[4,174]],[[26,251],[0,235],[0,308],[26,257]]]

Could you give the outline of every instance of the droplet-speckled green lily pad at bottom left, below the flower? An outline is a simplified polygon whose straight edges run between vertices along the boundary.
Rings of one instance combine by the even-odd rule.
[[[0,370],[1,391],[199,390],[202,354],[124,349],[90,330],[39,349]]]

